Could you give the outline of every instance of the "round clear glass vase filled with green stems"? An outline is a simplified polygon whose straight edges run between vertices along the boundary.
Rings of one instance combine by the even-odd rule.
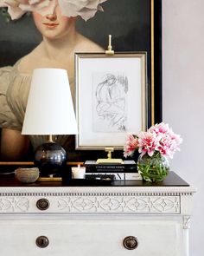
[[[169,161],[157,152],[152,156],[148,154],[142,156],[140,154],[137,160],[137,169],[143,181],[163,181],[169,174]]]

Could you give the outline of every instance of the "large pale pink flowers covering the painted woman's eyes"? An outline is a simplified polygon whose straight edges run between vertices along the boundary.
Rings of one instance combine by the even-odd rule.
[[[107,0],[0,0],[0,7],[8,7],[12,20],[20,18],[27,11],[36,11],[42,16],[53,13],[57,3],[64,16],[81,16],[85,21],[92,18],[98,10],[103,11],[100,3]]]

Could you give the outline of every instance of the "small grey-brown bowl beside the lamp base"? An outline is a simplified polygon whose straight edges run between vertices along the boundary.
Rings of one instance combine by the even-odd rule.
[[[39,168],[17,168],[15,170],[15,177],[18,181],[24,183],[33,183],[39,178]]]

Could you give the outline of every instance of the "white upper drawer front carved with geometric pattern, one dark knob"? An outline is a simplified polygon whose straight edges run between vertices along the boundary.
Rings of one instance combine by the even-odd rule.
[[[0,213],[180,213],[180,196],[3,196]]]

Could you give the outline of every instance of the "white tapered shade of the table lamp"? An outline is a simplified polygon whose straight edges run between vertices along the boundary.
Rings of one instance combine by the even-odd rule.
[[[67,70],[34,69],[22,135],[76,135]]]

